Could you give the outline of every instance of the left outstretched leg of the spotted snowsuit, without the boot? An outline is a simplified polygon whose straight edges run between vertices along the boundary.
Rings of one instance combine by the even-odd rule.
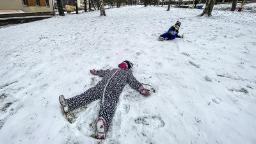
[[[68,111],[72,111],[84,106],[85,104],[90,104],[94,100],[100,99],[101,92],[102,90],[100,88],[92,87],[86,90],[86,92],[77,95],[76,97],[67,99]]]

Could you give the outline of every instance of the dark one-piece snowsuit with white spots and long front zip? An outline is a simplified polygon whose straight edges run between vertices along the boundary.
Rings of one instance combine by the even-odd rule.
[[[72,111],[100,99],[99,118],[106,120],[106,128],[113,118],[116,104],[125,84],[129,83],[132,88],[138,90],[142,85],[127,68],[115,68],[113,70],[99,70],[97,73],[103,79],[96,86],[89,88],[86,92],[67,99],[68,109]]]

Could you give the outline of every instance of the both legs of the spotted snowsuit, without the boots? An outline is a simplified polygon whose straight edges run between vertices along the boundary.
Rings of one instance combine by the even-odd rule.
[[[72,111],[85,104],[90,104],[94,100],[100,99],[99,118],[102,117],[106,120],[106,129],[108,130],[109,124],[115,113],[119,95],[116,95],[115,91],[107,91],[105,93],[108,93],[108,95],[104,95],[104,99],[102,99],[103,91],[102,88],[94,86],[76,97],[67,99],[68,111]]]

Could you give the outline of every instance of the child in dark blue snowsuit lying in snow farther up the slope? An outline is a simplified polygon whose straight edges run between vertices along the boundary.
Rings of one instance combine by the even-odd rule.
[[[175,38],[183,38],[183,35],[181,35],[181,36],[178,35],[180,25],[181,25],[181,23],[178,20],[175,25],[173,25],[166,33],[159,36],[158,39],[159,40],[173,40]]]

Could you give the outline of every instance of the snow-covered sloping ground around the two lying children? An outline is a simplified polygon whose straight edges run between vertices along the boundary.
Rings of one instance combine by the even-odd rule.
[[[126,6],[0,29],[0,143],[256,143],[256,15],[201,12]],[[176,20],[184,38],[158,41]],[[70,124],[58,96],[123,60],[155,92],[127,85],[106,140],[95,140],[99,101]]]

